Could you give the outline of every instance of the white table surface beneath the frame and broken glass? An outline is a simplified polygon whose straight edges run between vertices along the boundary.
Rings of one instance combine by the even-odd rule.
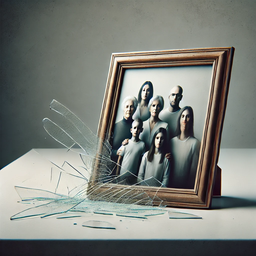
[[[211,210],[175,208],[199,215],[202,219],[169,219],[164,214],[142,221],[82,214],[77,219],[60,220],[56,219],[59,215],[54,215],[11,221],[11,216],[31,207],[17,202],[21,199],[14,186],[54,191],[50,185],[52,163],[47,159],[58,166],[62,166],[65,160],[74,167],[82,164],[78,154],[67,153],[66,149],[35,150],[40,154],[31,150],[0,170],[1,239],[256,239],[256,149],[221,149],[218,165],[222,169],[222,197],[213,198]],[[116,230],[83,227],[82,222],[87,220],[109,221]]]

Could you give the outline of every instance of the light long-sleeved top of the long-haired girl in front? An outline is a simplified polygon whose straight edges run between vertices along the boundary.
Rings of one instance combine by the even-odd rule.
[[[152,162],[148,161],[148,151],[144,154],[141,161],[138,177],[146,180],[154,177],[166,187],[169,183],[170,163],[165,157],[163,163],[159,164],[161,154],[154,154]]]

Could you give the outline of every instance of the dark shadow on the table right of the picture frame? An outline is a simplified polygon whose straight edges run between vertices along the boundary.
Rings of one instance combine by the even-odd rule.
[[[218,196],[212,197],[211,209],[225,209],[237,207],[256,207],[256,200],[244,199],[238,197]]]

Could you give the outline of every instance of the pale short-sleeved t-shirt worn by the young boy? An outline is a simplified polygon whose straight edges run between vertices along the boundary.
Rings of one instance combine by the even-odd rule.
[[[120,175],[126,173],[126,170],[130,173],[136,174],[140,156],[145,153],[145,143],[143,141],[133,142],[129,140],[129,143],[125,146],[121,146],[121,155],[123,157],[122,167]]]

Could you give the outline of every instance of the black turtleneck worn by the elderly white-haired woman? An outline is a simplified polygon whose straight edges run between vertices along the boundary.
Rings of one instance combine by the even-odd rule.
[[[128,120],[123,118],[115,124],[113,132],[112,157],[116,158],[116,152],[121,147],[123,140],[132,138],[131,128],[133,121],[132,117],[128,118]]]

